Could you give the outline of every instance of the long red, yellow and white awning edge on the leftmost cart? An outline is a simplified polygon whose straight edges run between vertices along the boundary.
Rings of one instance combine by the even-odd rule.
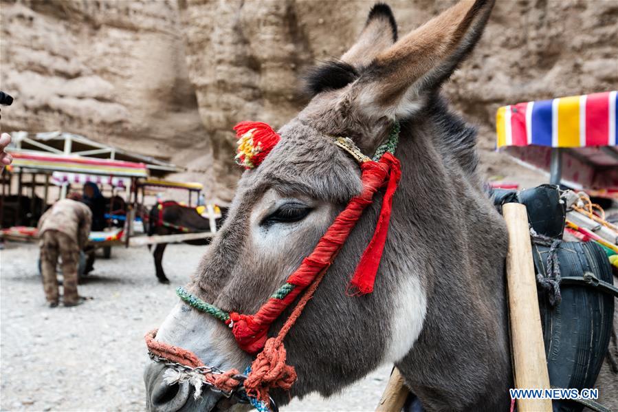
[[[39,154],[25,151],[10,151],[10,153],[13,157],[12,165],[14,167],[31,169],[34,171],[64,171],[117,177],[148,177],[146,165],[143,163],[55,155],[50,153]]]

